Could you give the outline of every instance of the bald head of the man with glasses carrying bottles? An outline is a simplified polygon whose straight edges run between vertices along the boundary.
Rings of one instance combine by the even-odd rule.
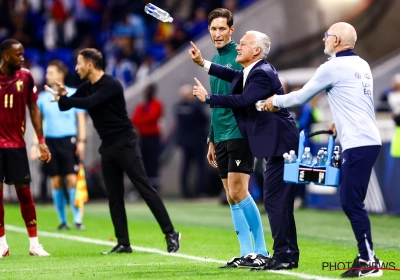
[[[337,22],[328,29],[328,37],[324,38],[325,53],[334,55],[339,51],[354,49],[357,32],[346,22]]]

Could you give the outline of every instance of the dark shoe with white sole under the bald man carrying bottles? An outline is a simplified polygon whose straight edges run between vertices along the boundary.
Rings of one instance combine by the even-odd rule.
[[[379,277],[383,272],[379,268],[382,262],[374,256],[375,262],[364,261],[359,256],[354,259],[353,265],[349,270],[340,275],[342,278],[350,277]]]

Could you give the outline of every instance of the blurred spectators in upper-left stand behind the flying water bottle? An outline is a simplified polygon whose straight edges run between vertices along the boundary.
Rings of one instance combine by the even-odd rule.
[[[217,7],[232,12],[254,0],[0,0],[0,41],[14,38],[25,47],[26,67],[36,84],[45,83],[52,59],[69,68],[66,84],[77,86],[77,50],[94,47],[105,56],[106,72],[123,86],[146,77],[189,40],[207,30]],[[174,18],[163,23],[147,15],[148,3]]]

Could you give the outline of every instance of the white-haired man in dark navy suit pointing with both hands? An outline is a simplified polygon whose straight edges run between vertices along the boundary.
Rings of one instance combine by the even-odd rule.
[[[257,111],[255,103],[274,94],[284,94],[275,68],[265,59],[270,50],[270,39],[258,31],[248,31],[237,46],[236,62],[244,69],[237,71],[202,58],[193,44],[189,50],[192,60],[209,75],[231,82],[230,95],[213,95],[201,83],[194,86],[193,94],[211,107],[232,108],[243,136],[257,158],[265,158],[264,207],[268,213],[274,255],[261,268],[265,270],[298,267],[296,224],[293,215],[295,187],[283,181],[282,154],[297,150],[299,131],[287,110],[276,113]]]

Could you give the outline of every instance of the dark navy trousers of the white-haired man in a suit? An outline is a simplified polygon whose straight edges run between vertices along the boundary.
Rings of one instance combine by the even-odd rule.
[[[264,207],[268,213],[274,256],[279,262],[299,261],[296,223],[294,220],[295,184],[283,181],[283,157],[269,157],[264,172]]]

